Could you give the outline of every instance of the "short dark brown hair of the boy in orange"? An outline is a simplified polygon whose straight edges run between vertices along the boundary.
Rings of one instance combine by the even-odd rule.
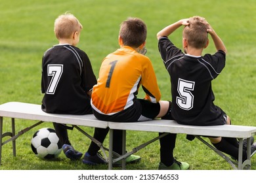
[[[139,47],[146,41],[146,24],[139,18],[127,18],[120,26],[119,36],[123,44],[131,47]]]

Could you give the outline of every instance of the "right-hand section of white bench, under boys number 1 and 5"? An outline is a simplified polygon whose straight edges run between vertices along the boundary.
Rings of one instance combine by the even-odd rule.
[[[244,126],[244,125],[213,125],[213,126],[195,126],[195,125],[181,125],[173,120],[151,120],[147,122],[131,122],[131,123],[120,123],[120,122],[108,122],[108,127],[110,127],[110,144],[109,144],[109,167],[111,168],[112,161],[112,141],[113,141],[113,130],[120,129],[123,130],[123,159],[144,146],[154,142],[160,137],[156,137],[149,142],[145,142],[140,146],[134,148],[131,152],[126,152],[125,150],[125,142],[126,142],[126,131],[151,131],[151,132],[163,132],[163,133],[184,133],[188,135],[194,135],[197,139],[202,141],[205,145],[209,146],[212,150],[214,150],[219,156],[224,158],[233,169],[251,169],[251,148],[250,148],[250,137],[256,134],[256,127],[253,126]],[[238,162],[233,161],[228,158],[223,152],[217,150],[207,141],[203,140],[200,136],[211,136],[211,137],[233,137],[239,139],[239,158]],[[243,149],[243,139],[247,139],[247,160],[242,162],[242,149]],[[122,163],[123,169],[125,169],[125,161]]]

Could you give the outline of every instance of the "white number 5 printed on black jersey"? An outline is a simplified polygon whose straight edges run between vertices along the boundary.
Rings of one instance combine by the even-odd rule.
[[[190,91],[194,90],[194,85],[195,82],[179,78],[177,90],[180,97],[176,98],[176,103],[184,110],[190,110],[193,108],[194,95],[192,95]]]

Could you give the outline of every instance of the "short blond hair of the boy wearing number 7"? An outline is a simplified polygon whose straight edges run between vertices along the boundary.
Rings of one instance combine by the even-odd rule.
[[[54,33],[57,39],[68,39],[75,31],[80,32],[81,29],[83,26],[79,20],[70,13],[58,16],[54,22]]]

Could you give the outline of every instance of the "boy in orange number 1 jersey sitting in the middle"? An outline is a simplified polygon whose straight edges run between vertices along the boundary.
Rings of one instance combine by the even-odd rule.
[[[146,24],[139,18],[128,18],[119,30],[120,48],[106,56],[100,67],[97,84],[93,87],[91,105],[98,120],[111,122],[139,122],[166,117],[170,113],[169,101],[161,101],[161,93],[150,59],[146,53]],[[145,92],[138,99],[139,88]],[[94,137],[103,142],[108,129],[95,128]],[[161,133],[160,133],[161,135]],[[121,154],[121,131],[114,131],[114,151]],[[188,169],[188,163],[173,158],[176,134],[160,139],[159,169]],[[101,157],[99,148],[91,142],[83,163],[96,164]],[[127,159],[136,161],[138,156]],[[127,161],[126,159],[126,161]]]

